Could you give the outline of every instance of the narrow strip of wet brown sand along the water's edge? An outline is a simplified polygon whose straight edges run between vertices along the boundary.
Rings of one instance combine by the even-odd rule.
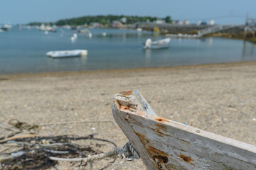
[[[28,72],[28,73],[10,73],[10,74],[0,74],[0,81],[21,78],[21,77],[63,77],[71,76],[75,74],[102,74],[102,73],[114,73],[114,72],[136,72],[136,71],[152,71],[153,69],[192,69],[195,67],[225,67],[225,66],[236,66],[240,64],[256,64],[256,61],[244,61],[244,62],[220,62],[220,63],[210,63],[210,64],[191,64],[191,65],[177,65],[168,67],[135,67],[128,69],[93,69],[93,70],[80,70],[80,71],[63,71],[63,72]]]

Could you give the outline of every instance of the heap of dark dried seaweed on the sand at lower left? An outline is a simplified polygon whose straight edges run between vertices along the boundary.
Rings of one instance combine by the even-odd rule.
[[[0,154],[0,168],[4,170],[49,169],[50,167],[55,166],[55,164],[58,162],[50,160],[48,157],[87,157],[89,154],[102,153],[100,149],[95,149],[88,145],[78,145],[73,142],[78,140],[96,140],[100,142],[107,142],[111,145],[114,145],[114,147],[117,147],[114,142],[95,138],[95,135],[96,134],[92,134],[86,137],[78,137],[72,135],[26,137],[1,142],[0,146],[2,145],[8,147],[9,145],[14,145],[16,149],[9,153]],[[96,144],[96,147],[100,148],[103,145]],[[4,157],[1,158],[1,155],[4,155]],[[87,164],[81,164],[80,166],[87,166]],[[107,166],[104,168],[106,167]]]

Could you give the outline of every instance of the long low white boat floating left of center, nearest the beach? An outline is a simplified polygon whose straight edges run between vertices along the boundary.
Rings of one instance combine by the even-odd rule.
[[[46,55],[53,58],[80,57],[80,56],[86,56],[87,50],[50,51],[50,52],[47,52]]]

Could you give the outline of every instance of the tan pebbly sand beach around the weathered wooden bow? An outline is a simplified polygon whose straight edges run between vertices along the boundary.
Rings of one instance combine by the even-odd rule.
[[[33,123],[39,125],[38,135],[97,133],[122,147],[127,138],[112,118],[112,96],[133,89],[161,117],[256,145],[256,62],[0,74],[0,123],[9,126],[14,118]],[[1,137],[7,133],[0,130]],[[112,145],[99,149],[107,152]],[[94,169],[104,164],[97,162]],[[57,167],[78,169],[70,163]],[[145,169],[141,160],[119,167]]]

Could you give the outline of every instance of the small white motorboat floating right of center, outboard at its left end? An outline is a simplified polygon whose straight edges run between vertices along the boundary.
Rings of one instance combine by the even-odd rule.
[[[144,49],[159,49],[169,47],[171,38],[165,38],[163,40],[152,41],[150,38],[144,43]]]

